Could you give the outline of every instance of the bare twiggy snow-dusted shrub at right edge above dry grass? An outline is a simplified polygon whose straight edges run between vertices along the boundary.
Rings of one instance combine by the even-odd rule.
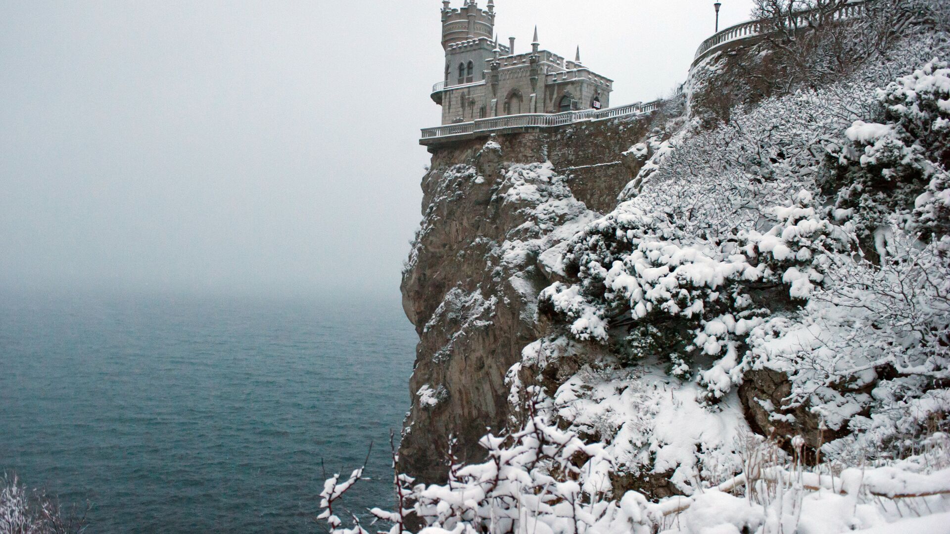
[[[894,228],[881,267],[833,257],[805,314],[751,333],[742,366],[786,373],[786,409],[807,404],[829,429],[852,431],[829,451],[853,461],[899,453],[890,446],[950,412],[947,239],[921,247]]]

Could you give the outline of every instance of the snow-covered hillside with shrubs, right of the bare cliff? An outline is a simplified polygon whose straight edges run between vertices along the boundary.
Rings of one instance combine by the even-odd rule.
[[[550,163],[511,165],[504,201],[539,231],[499,254],[562,280],[538,300],[556,327],[508,373],[516,430],[445,485],[397,476],[398,509],[373,513],[393,533],[950,532],[950,67],[934,53],[944,41],[904,43],[860,77],[632,147],[653,156],[602,217]],[[750,390],[762,375],[780,398]],[[360,476],[328,481],[334,532],[367,531],[333,512]],[[639,490],[657,479],[675,495]]]

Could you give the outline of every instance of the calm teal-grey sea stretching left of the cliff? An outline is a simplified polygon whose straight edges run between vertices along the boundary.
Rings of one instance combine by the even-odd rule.
[[[390,505],[415,334],[396,298],[0,294],[0,470],[90,532],[311,532],[322,464]]]

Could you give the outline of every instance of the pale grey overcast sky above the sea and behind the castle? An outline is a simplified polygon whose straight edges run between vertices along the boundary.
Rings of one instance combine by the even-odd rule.
[[[714,25],[712,0],[496,4],[503,42],[580,45],[614,105],[684,81]],[[0,2],[0,287],[397,296],[440,7]]]

